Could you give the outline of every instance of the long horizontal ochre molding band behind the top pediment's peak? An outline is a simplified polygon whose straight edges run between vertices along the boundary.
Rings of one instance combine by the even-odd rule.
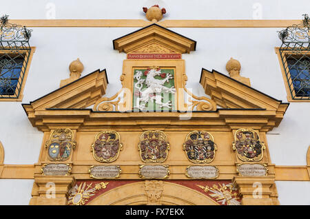
[[[12,19],[31,28],[143,28],[152,24],[143,19]],[[165,28],[287,28],[300,20],[164,20]]]

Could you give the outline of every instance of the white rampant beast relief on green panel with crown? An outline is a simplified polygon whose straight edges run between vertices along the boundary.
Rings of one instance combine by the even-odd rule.
[[[134,70],[134,109],[175,110],[174,69],[152,66]]]

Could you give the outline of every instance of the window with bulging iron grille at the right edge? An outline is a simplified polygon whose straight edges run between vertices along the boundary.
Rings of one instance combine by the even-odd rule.
[[[278,49],[289,101],[310,101],[310,19],[279,32]]]

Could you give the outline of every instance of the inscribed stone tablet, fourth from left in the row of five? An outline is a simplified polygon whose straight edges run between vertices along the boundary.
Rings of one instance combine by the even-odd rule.
[[[188,166],[185,175],[189,178],[217,178],[218,168],[213,166]]]

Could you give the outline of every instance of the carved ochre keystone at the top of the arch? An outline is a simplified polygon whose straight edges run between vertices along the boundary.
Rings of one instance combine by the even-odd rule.
[[[163,181],[145,180],[145,193],[147,205],[161,205],[161,194],[163,193]]]

